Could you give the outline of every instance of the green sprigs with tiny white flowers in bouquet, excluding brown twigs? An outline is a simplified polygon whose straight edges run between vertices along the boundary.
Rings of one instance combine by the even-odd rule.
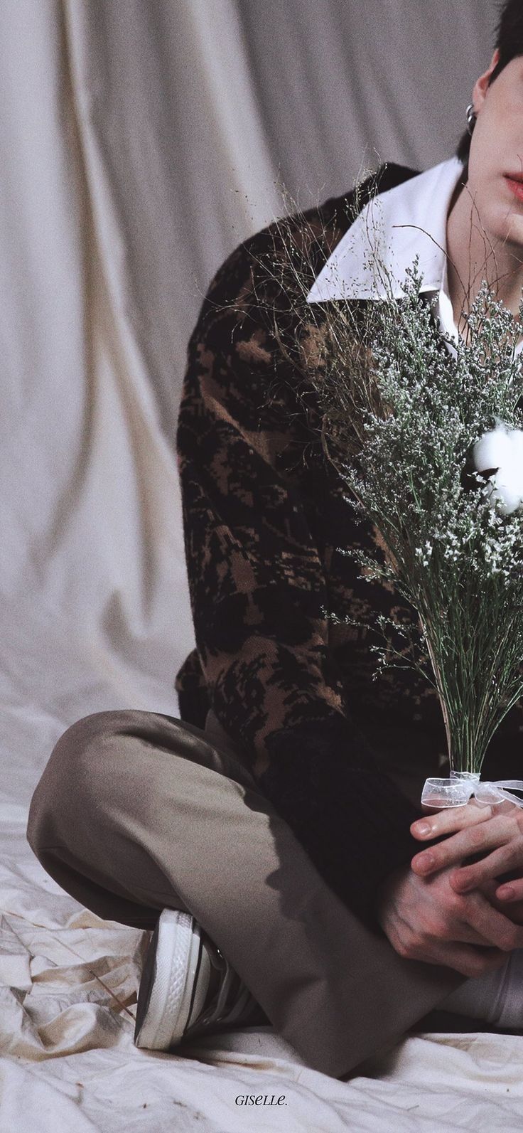
[[[418,611],[451,767],[479,772],[523,692],[523,517],[492,509],[479,475],[465,491],[463,470],[492,418],[521,425],[514,347],[523,324],[485,284],[453,356],[420,286],[414,266],[403,300],[374,305],[374,373],[392,411],[366,414],[360,470],[340,470],[381,533],[396,589]]]

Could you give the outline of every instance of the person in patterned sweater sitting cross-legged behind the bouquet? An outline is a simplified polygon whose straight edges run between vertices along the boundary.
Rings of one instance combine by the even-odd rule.
[[[306,412],[300,358],[312,335],[277,270],[291,230],[312,304],[315,282],[378,193],[400,269],[405,224],[404,269],[415,241],[421,253],[431,241],[427,293],[443,330],[464,331],[461,281],[479,286],[486,247],[487,272],[517,310],[518,0],[504,6],[468,127],[457,156],[435,169],[388,164],[358,196],[242,244],[190,339],[178,451],[196,649],[178,675],[181,718],[126,709],[74,724],[27,827],[67,892],[101,917],[153,930],[139,1047],[183,1049],[223,1028],[269,1023],[308,1065],[342,1077],[435,1007],[523,1025],[520,909],[496,883],[507,869],[523,874],[522,812],[485,808],[478,824],[471,804],[426,817],[421,830],[421,786],[446,748],[439,705],[412,672],[372,681],[369,634],[344,620],[391,615],[401,603],[337,552],[376,548],[379,533],[355,526],[312,400]],[[358,291],[355,253],[350,271],[354,298],[379,301]],[[495,777],[511,774],[518,744],[517,724],[507,724]],[[482,867],[463,874],[480,845]]]

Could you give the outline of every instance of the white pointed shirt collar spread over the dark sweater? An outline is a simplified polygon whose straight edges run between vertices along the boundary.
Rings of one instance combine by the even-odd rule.
[[[446,229],[462,171],[462,162],[451,157],[372,197],[336,245],[307,303],[401,298],[406,269],[418,256],[420,291],[435,297],[439,329],[457,344],[460,333],[447,282]],[[520,342],[515,353],[522,348]],[[454,352],[452,346],[449,349]]]

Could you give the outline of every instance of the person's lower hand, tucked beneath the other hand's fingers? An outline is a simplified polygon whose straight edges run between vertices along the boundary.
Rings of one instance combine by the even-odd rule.
[[[440,869],[420,877],[409,866],[395,870],[379,887],[377,917],[400,956],[482,976],[523,947],[523,929],[483,893],[458,894],[451,874]]]

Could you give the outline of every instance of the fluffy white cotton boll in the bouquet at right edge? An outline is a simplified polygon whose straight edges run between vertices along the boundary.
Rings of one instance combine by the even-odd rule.
[[[478,472],[495,469],[489,502],[503,516],[511,516],[523,505],[523,431],[511,428],[495,417],[496,428],[485,433],[472,450]]]

